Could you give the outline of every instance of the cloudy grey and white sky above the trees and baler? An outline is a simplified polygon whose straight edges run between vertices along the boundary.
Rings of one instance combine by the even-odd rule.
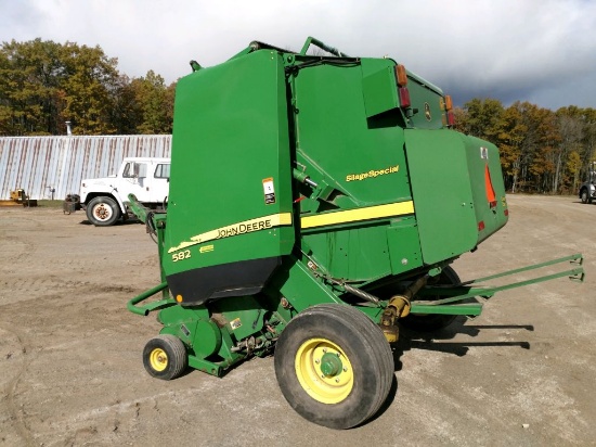
[[[0,42],[100,46],[118,71],[167,84],[252,40],[300,51],[308,36],[387,55],[451,94],[596,108],[594,0],[0,0]]]

